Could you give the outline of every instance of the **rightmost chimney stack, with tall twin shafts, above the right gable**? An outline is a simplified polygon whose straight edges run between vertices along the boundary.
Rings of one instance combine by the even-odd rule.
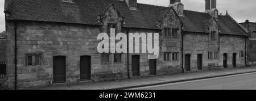
[[[205,12],[218,19],[217,0],[205,0]]]

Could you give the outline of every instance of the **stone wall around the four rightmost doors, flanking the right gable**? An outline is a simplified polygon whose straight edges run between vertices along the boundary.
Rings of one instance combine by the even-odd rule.
[[[233,53],[237,53],[236,62],[237,67],[245,66],[245,57],[240,58],[240,51],[244,52],[245,56],[245,37],[243,36],[232,36],[232,35],[221,35],[220,36],[220,53],[219,59],[209,60],[208,52],[213,51],[209,49],[208,34],[186,34],[184,36],[184,52],[185,54],[191,54],[191,71],[198,71],[197,69],[197,54],[203,54],[203,70],[208,69],[222,69],[223,68],[223,54],[228,53],[228,67],[233,67],[232,58]],[[209,66],[214,64],[215,66]]]

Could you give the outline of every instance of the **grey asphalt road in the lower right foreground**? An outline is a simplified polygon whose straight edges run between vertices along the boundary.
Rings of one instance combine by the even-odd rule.
[[[139,87],[131,90],[256,90],[256,73]]]

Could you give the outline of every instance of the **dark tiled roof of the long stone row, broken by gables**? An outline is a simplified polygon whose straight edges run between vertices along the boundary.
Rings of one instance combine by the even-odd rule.
[[[61,0],[18,0],[13,1],[11,17],[16,20],[35,20],[44,22],[61,22],[90,24],[101,26],[97,22],[98,14],[113,4],[121,16],[125,17],[124,27],[159,29],[156,22],[169,8],[138,3],[138,10],[129,10],[123,1],[118,0],[75,0],[74,3],[61,2]],[[205,22],[211,19],[204,12],[184,10],[180,17],[184,23],[184,31],[206,32]],[[229,16],[219,16],[218,23],[221,32],[234,35],[245,35]]]

